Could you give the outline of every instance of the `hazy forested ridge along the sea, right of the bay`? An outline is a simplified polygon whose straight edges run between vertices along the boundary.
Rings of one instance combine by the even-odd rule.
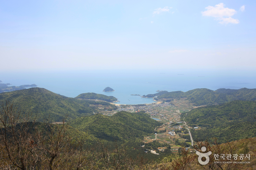
[[[191,103],[195,105],[216,105],[222,104],[233,100],[244,100],[244,101],[255,101],[256,100],[256,89],[193,89],[188,92],[176,91],[167,92],[164,91],[156,94],[148,94],[145,97],[158,96],[158,99],[163,98],[187,98]]]

